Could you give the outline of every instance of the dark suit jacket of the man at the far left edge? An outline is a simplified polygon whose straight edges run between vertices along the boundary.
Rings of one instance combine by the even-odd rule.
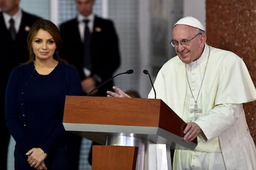
[[[4,100],[6,83],[11,70],[22,62],[28,60],[27,35],[32,24],[40,17],[22,11],[22,20],[15,42],[12,42],[11,35],[0,12],[0,51],[1,51],[1,98]],[[1,107],[2,108],[2,107]],[[2,114],[1,114],[2,115]]]

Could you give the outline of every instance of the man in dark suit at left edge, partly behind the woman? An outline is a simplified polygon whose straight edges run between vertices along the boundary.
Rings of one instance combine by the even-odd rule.
[[[0,51],[1,51],[1,101],[5,100],[6,84],[11,70],[18,64],[28,60],[27,35],[32,24],[40,17],[22,11],[19,7],[20,0],[0,1]],[[14,20],[15,38],[12,39],[9,28]],[[0,169],[7,169],[7,155],[10,140],[9,130],[6,127],[4,116],[4,102],[1,102],[1,132],[2,132],[2,164]]]

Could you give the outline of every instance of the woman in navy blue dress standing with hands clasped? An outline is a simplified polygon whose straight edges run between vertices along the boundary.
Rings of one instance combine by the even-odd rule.
[[[36,21],[27,37],[30,59],[12,70],[6,123],[16,142],[15,169],[77,169],[80,137],[62,125],[66,95],[82,95],[75,67],[58,56],[58,27]]]

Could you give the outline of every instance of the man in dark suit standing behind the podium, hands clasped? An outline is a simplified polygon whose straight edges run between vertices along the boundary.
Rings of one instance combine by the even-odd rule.
[[[90,93],[93,96],[106,96],[106,91],[112,90],[113,80],[100,88],[96,87],[113,77],[120,65],[121,57],[116,29],[111,20],[102,19],[93,14],[94,0],[75,1],[79,11],[77,17],[59,26],[63,40],[60,53],[79,70],[85,95]],[[84,20],[88,21],[85,23]],[[86,26],[89,31],[85,29]],[[87,32],[90,32],[88,36],[84,36]],[[85,48],[86,43],[89,43],[89,48]],[[85,56],[85,53],[89,54],[89,61],[86,60],[88,56]],[[92,153],[89,154],[88,161],[92,164]]]

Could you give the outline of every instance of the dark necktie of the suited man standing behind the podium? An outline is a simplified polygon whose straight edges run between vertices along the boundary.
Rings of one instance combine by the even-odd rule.
[[[85,32],[83,37],[83,44],[84,44],[84,57],[83,57],[84,62],[83,63],[84,63],[84,66],[90,70],[92,67],[91,56],[90,56],[91,34],[88,28],[88,22],[90,22],[90,20],[83,20],[83,22],[85,22]]]

